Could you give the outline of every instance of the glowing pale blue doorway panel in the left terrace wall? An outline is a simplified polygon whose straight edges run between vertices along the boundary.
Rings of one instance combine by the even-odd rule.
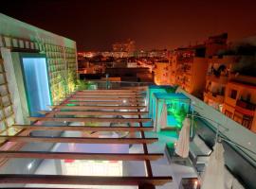
[[[39,116],[39,111],[49,111],[50,102],[45,58],[23,58],[23,68],[27,88],[28,109],[31,116]]]

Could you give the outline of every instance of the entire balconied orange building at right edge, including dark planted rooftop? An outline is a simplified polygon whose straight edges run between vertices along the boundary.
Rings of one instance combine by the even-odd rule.
[[[255,131],[255,57],[250,45],[235,43],[208,60],[204,101]]]

